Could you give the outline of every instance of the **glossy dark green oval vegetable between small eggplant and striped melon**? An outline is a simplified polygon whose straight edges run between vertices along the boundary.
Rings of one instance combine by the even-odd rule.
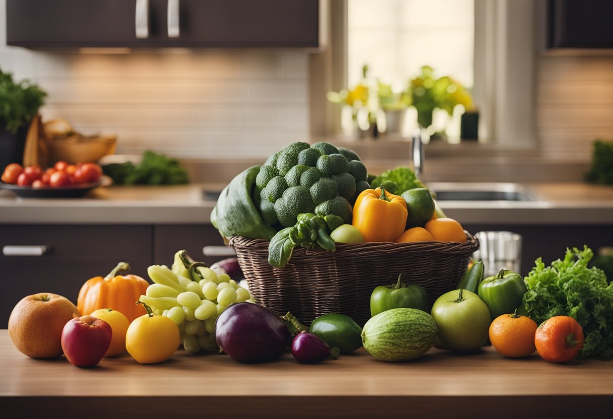
[[[362,328],[345,314],[321,315],[313,320],[309,331],[341,353],[351,353],[362,346]]]

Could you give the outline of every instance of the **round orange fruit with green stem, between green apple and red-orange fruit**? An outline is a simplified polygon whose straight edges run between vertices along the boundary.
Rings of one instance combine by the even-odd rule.
[[[536,322],[525,315],[503,314],[490,325],[490,342],[495,350],[509,358],[532,355],[535,350]]]

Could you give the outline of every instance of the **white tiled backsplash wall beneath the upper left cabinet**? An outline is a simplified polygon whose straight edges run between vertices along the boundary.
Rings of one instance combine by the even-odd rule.
[[[30,51],[7,47],[0,0],[0,68],[48,92],[44,120],[118,134],[117,153],[267,157],[309,137],[303,50]]]

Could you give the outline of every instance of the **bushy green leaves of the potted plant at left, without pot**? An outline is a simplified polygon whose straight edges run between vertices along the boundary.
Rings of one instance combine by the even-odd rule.
[[[15,134],[30,123],[44,103],[47,93],[27,80],[13,81],[13,75],[0,69],[0,129]]]

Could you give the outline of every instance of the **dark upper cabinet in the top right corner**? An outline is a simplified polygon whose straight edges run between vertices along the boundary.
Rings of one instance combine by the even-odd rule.
[[[549,0],[548,48],[613,48],[613,1]]]

